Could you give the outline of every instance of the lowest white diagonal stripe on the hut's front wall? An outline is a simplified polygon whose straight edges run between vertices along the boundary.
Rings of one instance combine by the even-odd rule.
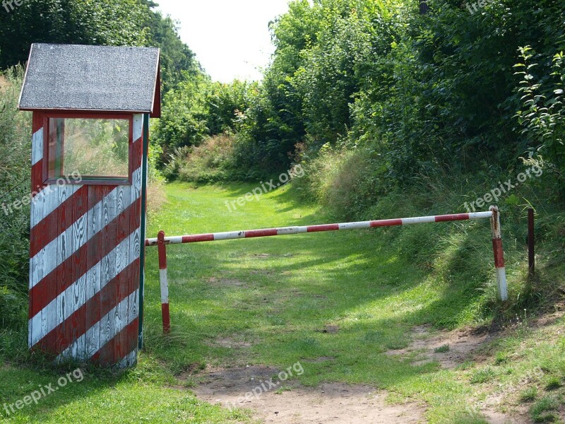
[[[124,307],[127,308],[129,302],[137,300],[138,295],[139,295],[138,290],[136,290],[135,292],[131,293],[131,295],[129,295],[127,298],[119,302],[119,305],[114,307],[110,312],[108,312],[104,317],[102,317],[102,319],[100,319],[99,322],[97,322],[95,325],[90,327],[90,329],[88,329],[85,334],[83,334],[71,346],[69,346],[69,348],[66,348],[65,351],[57,357],[57,362],[61,362],[69,358],[80,359],[80,360],[92,358],[96,352],[90,352],[86,350],[79,351],[78,346],[85,346],[86,339],[89,338],[92,339],[93,337],[96,337],[98,334],[100,334],[100,349],[104,348],[105,344],[111,341],[112,338],[114,338],[121,330],[125,329],[126,326],[129,326],[129,324],[131,324],[133,320],[137,318],[137,316],[132,315],[131,317],[129,317],[129,319],[124,319],[124,321],[122,321],[119,324],[119,326],[113,326],[109,333],[103,330],[101,331],[100,323],[105,322],[107,320],[114,321],[114,316],[116,314],[117,309]]]

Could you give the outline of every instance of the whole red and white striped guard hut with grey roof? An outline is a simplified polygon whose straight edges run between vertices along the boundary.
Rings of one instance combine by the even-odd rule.
[[[150,117],[159,49],[34,44],[29,346],[129,367],[143,341]]]

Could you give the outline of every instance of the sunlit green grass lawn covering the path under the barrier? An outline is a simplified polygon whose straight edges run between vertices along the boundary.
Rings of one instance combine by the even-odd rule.
[[[167,204],[151,217],[148,237],[158,230],[184,235],[330,222],[319,208],[297,201],[288,186],[228,211],[225,201],[251,189],[249,184],[169,184]],[[488,220],[439,225],[475,228],[488,245]],[[564,396],[563,319],[530,328],[524,323],[528,317],[521,317],[521,324],[489,343],[481,361],[451,370],[417,355],[386,354],[409,346],[415,326],[476,324],[480,306],[475,288],[436,276],[391,243],[403,230],[169,246],[172,334],[167,337],[161,334],[157,250],[149,248],[145,351],[138,367],[123,375],[86,373],[83,382],[73,382],[7,420],[252,422],[249,411],[230,412],[198,401],[186,390],[198,384],[196,371],[206,365],[285,369],[300,361],[304,373],[295,376],[300,384],[371,384],[388,390],[391,402],[424,404],[431,423],[487,423],[480,408],[470,405],[509,392],[513,394],[503,410],[524,406],[532,419],[557,422]],[[480,265],[487,275],[494,271],[491,261]],[[448,351],[448,346],[436,349],[438,354]],[[0,399],[13,403],[58,377],[57,371],[4,367]]]

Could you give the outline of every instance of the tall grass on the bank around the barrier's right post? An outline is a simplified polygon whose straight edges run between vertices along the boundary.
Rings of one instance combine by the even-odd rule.
[[[395,184],[381,155],[371,148],[326,148],[313,160],[304,160],[299,179],[304,196],[322,204],[338,220],[366,220],[438,215],[466,211],[466,203],[482,197],[509,178],[516,179],[532,164],[518,162],[508,170],[475,170],[462,175],[436,169],[415,175],[405,187]],[[509,319],[523,310],[551,308],[565,291],[565,234],[563,199],[555,196],[558,179],[551,165],[540,178],[528,179],[498,201],[508,263],[510,302],[496,302],[496,278],[489,223],[416,225],[383,230],[391,254],[420,264],[439,277],[446,288],[442,302],[459,305],[460,313],[444,319],[445,326],[463,322]],[[482,210],[488,208],[484,206]],[[538,273],[528,277],[527,208],[537,212]],[[394,253],[393,253],[394,252]]]

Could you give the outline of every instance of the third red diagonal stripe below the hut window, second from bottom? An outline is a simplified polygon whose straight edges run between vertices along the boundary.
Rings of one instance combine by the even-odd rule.
[[[76,312],[74,312],[69,318],[65,319],[64,322],[55,327],[49,334],[42,338],[34,346],[35,349],[39,349],[45,353],[53,353],[54,355],[59,355],[66,348],[71,346],[73,340],[83,336],[83,334],[88,331],[92,326],[105,317],[116,305],[122,300],[126,299],[131,293],[135,292],[133,290],[130,293],[126,293],[126,290],[120,292],[119,297],[115,297],[116,287],[119,284],[119,279],[121,275],[129,273],[132,269],[139,266],[139,259],[133,261],[124,271],[121,271],[119,276],[110,281],[105,285],[100,292],[96,293],[93,298],[90,298],[83,306],[81,306]],[[129,290],[128,290],[129,291]],[[100,307],[100,300],[102,296],[110,295],[112,298],[112,303],[107,303]],[[86,312],[89,312],[88,314]],[[94,312],[95,311],[95,312]],[[71,331],[72,329],[72,331]]]

